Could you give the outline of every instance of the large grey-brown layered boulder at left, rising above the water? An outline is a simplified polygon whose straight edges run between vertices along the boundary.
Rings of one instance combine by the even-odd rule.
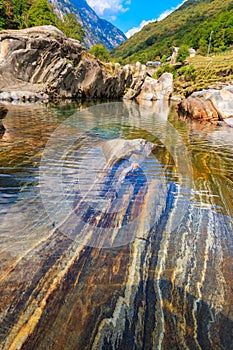
[[[0,32],[2,100],[119,98],[129,74],[109,69],[53,26]]]

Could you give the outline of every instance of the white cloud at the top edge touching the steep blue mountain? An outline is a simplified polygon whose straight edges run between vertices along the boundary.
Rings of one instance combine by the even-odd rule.
[[[130,2],[131,0],[87,0],[88,5],[102,17],[127,11]]]

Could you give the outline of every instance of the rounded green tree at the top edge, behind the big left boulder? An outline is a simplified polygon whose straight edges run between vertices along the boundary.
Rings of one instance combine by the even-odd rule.
[[[56,25],[57,16],[47,0],[36,0],[28,11],[28,26]]]

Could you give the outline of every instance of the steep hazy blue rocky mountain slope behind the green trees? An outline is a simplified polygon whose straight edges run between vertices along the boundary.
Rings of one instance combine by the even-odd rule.
[[[78,21],[86,31],[84,45],[87,48],[95,44],[104,44],[109,50],[120,45],[126,40],[122,31],[108,21],[99,18],[85,0],[49,0],[55,8],[55,12],[62,16],[62,13],[74,13]]]

